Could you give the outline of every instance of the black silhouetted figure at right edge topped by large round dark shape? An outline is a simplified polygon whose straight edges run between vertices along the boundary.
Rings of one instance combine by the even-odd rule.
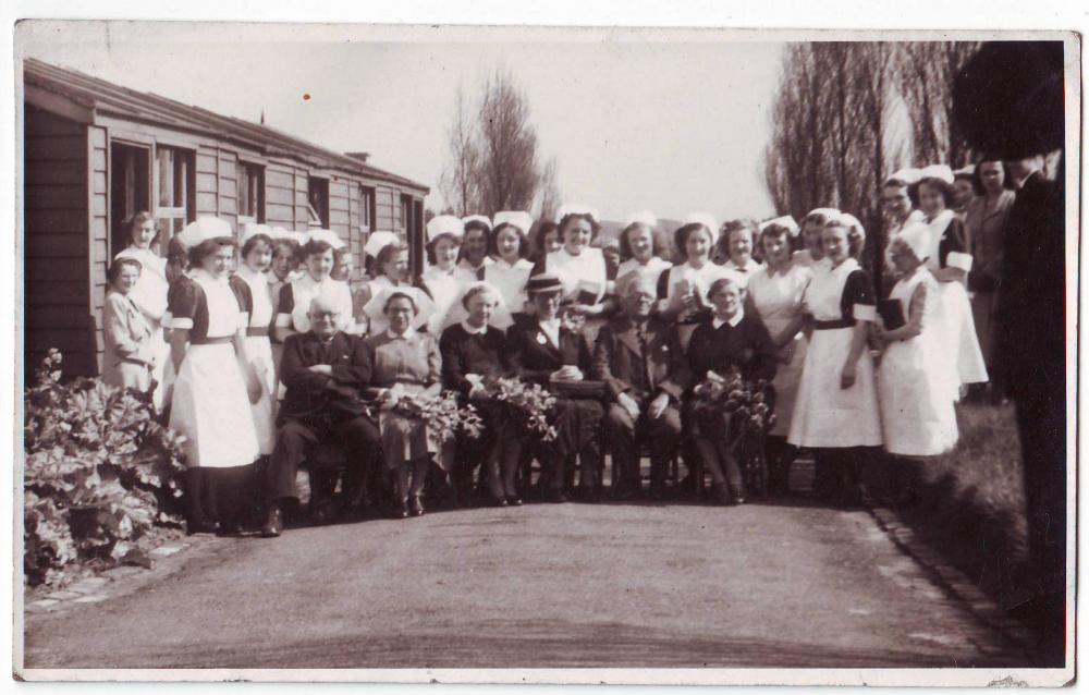
[[[1016,612],[1035,622],[1037,666],[1066,647],[1066,103],[1063,41],[993,41],[959,71],[955,127],[1017,184],[1003,233],[994,361],[1017,415],[1033,576]],[[1057,153],[1056,175],[1042,172]],[[1070,289],[1073,296],[1074,286]],[[1075,374],[1070,373],[1072,378]]]

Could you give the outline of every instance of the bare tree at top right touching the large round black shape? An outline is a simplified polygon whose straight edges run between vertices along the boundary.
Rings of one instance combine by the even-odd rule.
[[[960,167],[968,158],[964,137],[954,131],[953,80],[978,50],[975,41],[911,41],[895,57],[896,84],[911,119],[915,161]]]

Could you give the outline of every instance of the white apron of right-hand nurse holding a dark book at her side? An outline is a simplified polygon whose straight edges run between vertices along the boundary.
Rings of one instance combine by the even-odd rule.
[[[891,343],[878,368],[878,397],[881,402],[881,429],[885,450],[904,456],[934,456],[952,449],[957,441],[953,400],[956,375],[946,358],[939,325],[938,282],[926,267],[904,278],[892,289],[890,298],[898,300],[905,318],[909,317],[911,295],[926,283],[926,308],[922,332],[910,340]]]

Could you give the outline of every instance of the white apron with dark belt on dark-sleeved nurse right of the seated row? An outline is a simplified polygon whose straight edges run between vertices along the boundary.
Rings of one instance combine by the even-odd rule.
[[[840,300],[858,263],[852,258],[836,268],[820,268],[806,289],[806,308],[818,321],[842,318]],[[881,446],[873,361],[864,349],[855,365],[855,383],[840,388],[840,377],[854,328],[815,330],[802,370],[787,441],[796,447],[845,448]]]

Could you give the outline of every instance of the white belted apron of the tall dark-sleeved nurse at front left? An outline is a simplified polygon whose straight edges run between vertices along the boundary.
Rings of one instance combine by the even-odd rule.
[[[227,279],[194,273],[208,303],[208,338],[233,336],[245,314]],[[189,344],[174,382],[170,428],[186,437],[189,466],[228,468],[257,459],[257,435],[246,385],[231,342]]]

